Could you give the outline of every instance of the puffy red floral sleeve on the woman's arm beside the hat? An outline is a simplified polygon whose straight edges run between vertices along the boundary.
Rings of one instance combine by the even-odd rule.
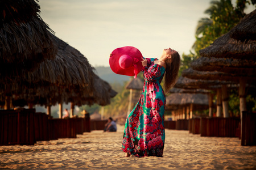
[[[161,76],[159,65],[155,64],[152,67],[142,67],[143,77],[147,82],[154,82],[156,78]]]

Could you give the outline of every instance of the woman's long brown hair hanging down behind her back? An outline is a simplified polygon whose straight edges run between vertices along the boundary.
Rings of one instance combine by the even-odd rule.
[[[168,94],[170,89],[174,87],[180,69],[179,53],[172,54],[170,59],[166,60],[166,74],[164,75],[164,91]]]

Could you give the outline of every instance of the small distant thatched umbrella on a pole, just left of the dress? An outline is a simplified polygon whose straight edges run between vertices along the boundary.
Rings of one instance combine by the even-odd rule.
[[[140,79],[131,79],[130,82],[126,85],[125,88],[130,89],[130,96],[129,96],[129,105],[127,110],[127,115],[131,111],[131,101],[133,100],[133,90],[141,91],[144,86],[144,82]]]

